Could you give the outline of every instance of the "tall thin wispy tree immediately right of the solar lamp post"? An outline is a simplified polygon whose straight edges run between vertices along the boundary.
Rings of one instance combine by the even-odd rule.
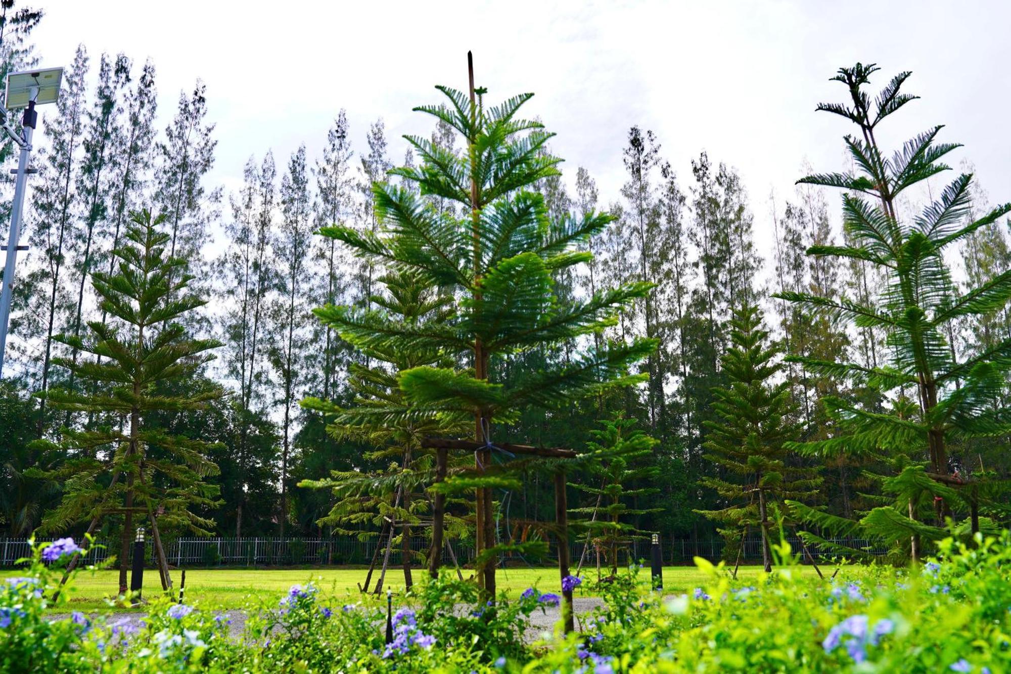
[[[34,214],[30,246],[41,250],[43,266],[29,276],[29,285],[40,288],[32,293],[30,315],[40,317],[37,331],[44,339],[39,390],[50,388],[53,339],[59,330],[61,315],[69,314],[73,305],[67,291],[64,264],[73,239],[73,218],[79,203],[76,178],[79,170],[78,153],[84,134],[88,55],[84,46],[77,48],[74,63],[64,76],[66,90],[57,101],[59,114],[45,124],[50,150],[42,164],[41,181],[33,192]],[[37,303],[37,304],[36,304]],[[37,435],[42,437],[45,425],[45,397],[38,401]]]

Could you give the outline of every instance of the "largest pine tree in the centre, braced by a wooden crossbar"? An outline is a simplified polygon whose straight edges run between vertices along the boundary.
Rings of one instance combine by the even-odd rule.
[[[418,184],[422,193],[460,203],[466,216],[438,214],[411,190],[378,183],[373,193],[379,232],[333,227],[323,233],[346,242],[371,262],[413,267],[433,285],[456,287],[453,317],[416,327],[352,307],[328,307],[318,315],[360,348],[424,347],[454,356],[469,352],[472,369],[415,367],[401,372],[399,383],[409,414],[472,420],[475,440],[486,446],[477,452],[473,480],[465,484],[476,491],[476,575],[494,597],[493,504],[484,469],[491,465],[493,424],[515,419],[527,408],[563,407],[602,388],[639,382],[641,377],[626,374],[627,367],[645,357],[655,343],[637,340],[593,351],[568,366],[532,373],[515,388],[496,382],[495,368],[544,344],[562,343],[613,324],[616,312],[642,298],[649,285],[609,288],[558,306],[553,301],[552,271],[586,261],[588,254],[573,247],[612,219],[593,215],[553,222],[544,197],[527,191],[555,173],[558,163],[540,153],[550,138],[542,125],[517,117],[531,94],[485,107],[483,89],[470,97],[447,87],[439,89],[448,105],[418,109],[451,124],[463,137],[465,153],[457,155],[429,139],[407,137],[421,166],[391,173]]]

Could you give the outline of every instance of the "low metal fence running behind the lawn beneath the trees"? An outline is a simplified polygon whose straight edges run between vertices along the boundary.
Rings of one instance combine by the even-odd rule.
[[[51,538],[37,538],[37,540],[52,540]],[[796,536],[788,536],[795,552],[801,551],[800,540]],[[866,550],[871,554],[882,555],[886,553],[884,547],[874,547],[871,541],[862,538],[831,538],[831,542],[843,544],[848,547]],[[85,562],[87,564],[98,564],[106,561],[109,557],[116,555],[119,550],[118,540],[96,540],[95,545],[89,553]],[[376,546],[384,545],[385,540],[379,541],[377,538],[359,540],[353,536],[335,537],[244,537],[244,538],[174,538],[166,540],[165,552],[169,559],[169,564],[182,567],[281,567],[281,566],[349,566],[367,565],[376,555]],[[457,562],[461,565],[470,564],[474,558],[474,547],[466,540],[454,540],[452,543],[453,554]],[[733,563],[737,558],[737,547],[740,544],[740,559],[744,563],[761,559],[761,538],[759,536],[749,536],[742,541],[730,540],[729,542],[720,537],[685,538],[678,536],[663,536],[662,551],[665,564],[678,565],[691,564],[696,557],[718,562],[727,559]],[[416,554],[416,564],[420,563],[421,556],[428,554],[430,539],[426,536],[411,536],[410,550]],[[539,566],[550,565],[558,559],[558,544],[556,541],[548,541],[547,554],[542,556],[526,555],[517,553],[503,554],[499,563],[505,567],[517,566]],[[586,546],[582,539],[575,539],[569,542],[569,557],[574,562],[578,561],[585,551],[585,564],[593,565],[595,555],[592,546]],[[29,554],[28,541],[25,538],[0,538],[0,568],[16,566],[17,560],[25,558]],[[815,545],[808,545],[808,551],[818,560],[836,557],[832,552],[819,550]],[[631,558],[637,560],[649,557],[649,542],[644,540],[633,541],[629,551]],[[133,545],[130,544],[127,559],[131,560]],[[383,552],[379,551],[381,562]],[[146,543],[145,557],[150,563],[154,560],[154,551],[151,540]],[[400,565],[401,552],[399,549],[390,552],[390,564]],[[443,564],[453,564],[453,557],[448,550],[443,550]],[[805,560],[806,561],[806,560]]]

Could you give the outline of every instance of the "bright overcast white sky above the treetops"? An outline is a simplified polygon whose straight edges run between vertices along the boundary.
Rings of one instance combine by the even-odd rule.
[[[877,62],[878,84],[914,73],[923,100],[887,130],[903,141],[946,123],[966,145],[995,200],[1011,199],[1011,3],[1006,2],[221,2],[48,0],[33,34],[41,65],[67,65],[84,43],[158,69],[160,125],[179,91],[207,84],[216,122],[211,182],[226,191],[246,159],[274,150],[282,165],[304,143],[321,147],[346,108],[356,151],[368,123],[385,119],[399,162],[405,133],[431,121],[410,112],[436,102],[432,87],[466,85],[466,52],[489,100],[533,91],[528,114],[558,134],[570,182],[585,166],[607,202],[624,181],[621,151],[632,124],[653,130],[662,154],[690,182],[707,150],[735,166],[768,251],[768,194],[793,193],[801,165],[842,164],[841,118],[815,113],[841,100],[828,79]],[[94,68],[94,65],[93,65]],[[44,113],[43,111],[43,122]],[[835,201],[832,201],[834,204]]]

